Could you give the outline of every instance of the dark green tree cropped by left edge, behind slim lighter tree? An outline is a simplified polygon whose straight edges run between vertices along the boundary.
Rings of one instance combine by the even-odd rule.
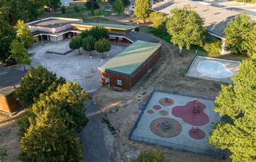
[[[11,43],[16,37],[16,31],[0,16],[0,62],[6,63],[7,59],[11,56]]]

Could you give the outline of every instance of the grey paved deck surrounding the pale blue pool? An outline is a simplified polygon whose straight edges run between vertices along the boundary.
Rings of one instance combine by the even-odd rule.
[[[234,74],[238,73],[240,62],[233,61],[233,60],[219,59],[219,58],[196,56],[196,58],[194,59],[193,63],[190,66],[190,69],[186,73],[186,76],[202,78],[207,80],[215,80],[215,81],[224,82],[224,83],[232,83],[231,77],[214,78],[214,77],[211,77],[211,75],[204,75],[203,73],[198,72],[197,70],[198,65],[201,61],[204,61],[204,60],[212,60],[212,61],[220,62],[224,64],[227,70],[232,71]]]

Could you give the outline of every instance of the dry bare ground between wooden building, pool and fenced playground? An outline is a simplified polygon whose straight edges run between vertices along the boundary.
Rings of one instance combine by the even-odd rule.
[[[167,149],[128,139],[128,134],[139,115],[139,103],[145,103],[152,87],[179,92],[197,97],[217,96],[220,90],[218,82],[198,78],[185,77],[184,73],[190,64],[193,50],[183,51],[183,57],[178,56],[178,48],[162,40],[162,56],[130,92],[116,92],[108,87],[101,87],[93,94],[93,100],[98,107],[100,118],[109,119],[117,130],[112,135],[105,124],[102,124],[106,134],[106,144],[110,148],[113,161],[125,160],[125,152],[159,148],[166,154],[166,161],[220,161],[221,159],[202,156],[200,154]],[[221,161],[231,161],[229,158]]]

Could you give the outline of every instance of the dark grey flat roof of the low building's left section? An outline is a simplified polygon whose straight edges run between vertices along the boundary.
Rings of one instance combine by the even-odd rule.
[[[71,24],[76,21],[72,20],[66,20],[66,19],[55,19],[55,18],[49,18],[49,19],[42,19],[41,21],[36,21],[35,23],[28,24],[30,26],[43,26],[46,28],[57,28],[58,26],[63,26],[66,24]]]

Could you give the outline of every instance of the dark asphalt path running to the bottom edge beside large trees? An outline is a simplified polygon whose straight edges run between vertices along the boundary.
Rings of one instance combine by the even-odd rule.
[[[85,161],[110,161],[109,150],[104,141],[102,127],[100,127],[97,109],[93,100],[86,100],[86,117],[90,119],[79,137],[82,141]]]

